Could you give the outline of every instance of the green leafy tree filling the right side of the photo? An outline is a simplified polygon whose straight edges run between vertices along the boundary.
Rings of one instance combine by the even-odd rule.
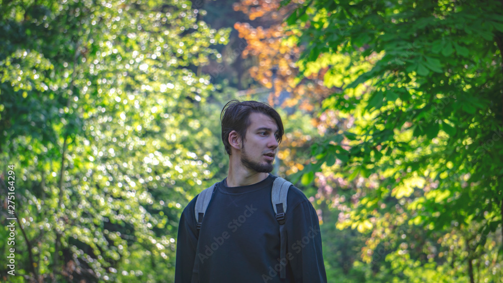
[[[350,148],[327,141],[318,162],[336,154],[344,178],[377,181],[338,226],[372,231],[363,259],[387,254],[395,280],[501,278],[499,11],[498,1],[312,1],[288,19],[301,69],[328,64],[325,83],[343,88],[324,109],[355,117]],[[391,250],[376,254],[381,244]]]

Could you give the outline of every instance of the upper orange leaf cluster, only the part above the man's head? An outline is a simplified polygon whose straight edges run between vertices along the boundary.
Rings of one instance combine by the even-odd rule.
[[[287,30],[283,22],[302,3],[302,0],[292,1],[286,7],[279,8],[279,0],[243,0],[234,4],[234,10],[243,12],[260,26],[235,23],[234,28],[248,44],[242,56],[255,59],[256,64],[249,69],[250,76],[264,87],[274,88],[269,104],[279,105],[281,92],[288,91],[290,95],[281,103],[282,107],[297,107],[312,113],[318,109],[315,106],[321,105],[321,101],[333,93],[334,89],[323,85],[326,70],[303,77],[300,81],[296,79],[299,69],[295,62],[299,59],[302,48],[285,43],[284,40],[294,32]],[[276,70],[275,75],[273,70]]]

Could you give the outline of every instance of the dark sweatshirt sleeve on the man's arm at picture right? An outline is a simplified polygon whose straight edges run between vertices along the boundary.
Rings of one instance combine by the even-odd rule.
[[[305,200],[293,208],[286,218],[286,256],[295,283],[326,283],[319,221],[313,206]]]

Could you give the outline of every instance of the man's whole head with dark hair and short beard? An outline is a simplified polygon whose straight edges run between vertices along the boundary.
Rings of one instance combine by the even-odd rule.
[[[227,154],[239,152],[241,163],[257,172],[272,171],[284,134],[278,112],[265,103],[232,100],[224,106],[220,119]]]

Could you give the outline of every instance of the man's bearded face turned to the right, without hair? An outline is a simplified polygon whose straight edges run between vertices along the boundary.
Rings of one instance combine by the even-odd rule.
[[[262,113],[250,114],[250,126],[241,146],[241,163],[254,171],[269,173],[278,148],[278,125]]]

